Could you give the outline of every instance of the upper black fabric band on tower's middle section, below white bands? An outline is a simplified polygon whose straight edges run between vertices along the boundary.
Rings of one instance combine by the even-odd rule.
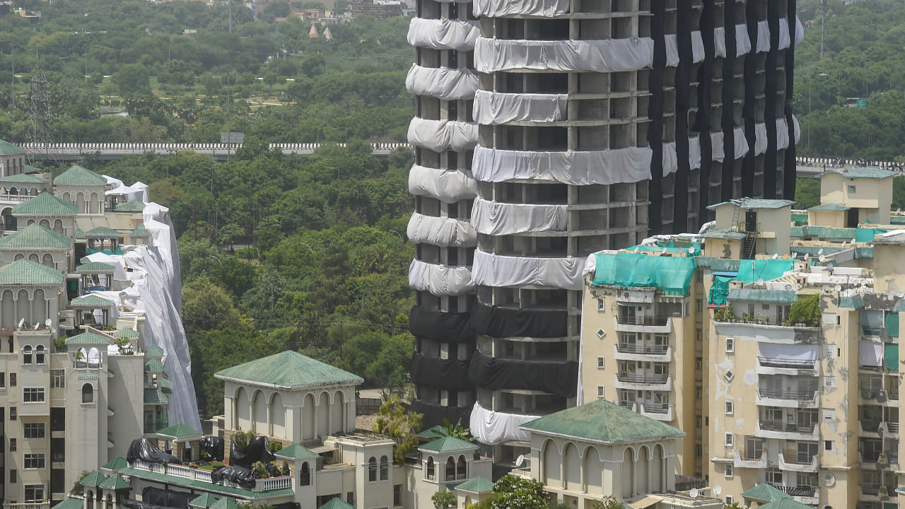
[[[513,310],[474,303],[472,329],[493,338],[561,338],[568,335],[568,312]]]

